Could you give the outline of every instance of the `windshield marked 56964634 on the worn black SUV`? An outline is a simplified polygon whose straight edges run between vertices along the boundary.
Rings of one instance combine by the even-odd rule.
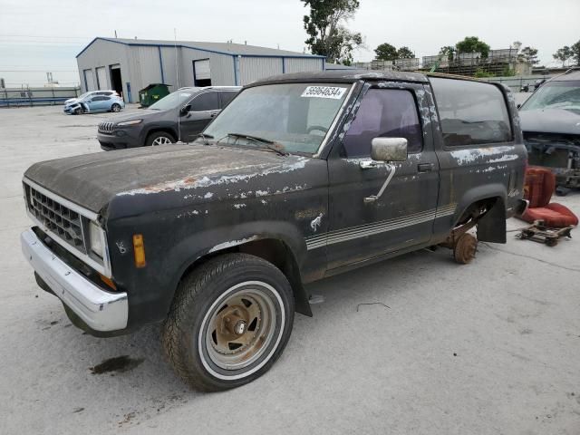
[[[248,88],[209,124],[204,135],[219,143],[264,148],[259,141],[242,137],[254,136],[274,141],[286,152],[314,154],[340,110],[349,86],[285,83]]]

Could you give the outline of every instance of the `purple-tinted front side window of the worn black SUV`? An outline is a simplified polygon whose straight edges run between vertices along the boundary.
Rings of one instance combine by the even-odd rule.
[[[411,91],[370,89],[362,98],[353,123],[343,139],[343,157],[371,155],[374,138],[405,138],[407,150],[423,146],[417,104]]]

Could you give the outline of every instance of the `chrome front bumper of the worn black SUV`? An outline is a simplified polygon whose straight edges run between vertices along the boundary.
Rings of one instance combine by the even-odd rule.
[[[27,229],[20,236],[22,252],[34,271],[95,331],[117,331],[127,327],[129,304],[126,293],[109,293],[68,266]]]

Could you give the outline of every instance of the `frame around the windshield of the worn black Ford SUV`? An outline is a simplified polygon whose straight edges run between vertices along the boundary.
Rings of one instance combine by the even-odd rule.
[[[297,151],[297,150],[283,150],[284,152],[290,154],[290,155],[297,155],[297,156],[305,156],[305,157],[312,157],[312,158],[320,158],[325,147],[328,145],[329,143],[329,139],[332,137],[333,135],[333,131],[336,129],[336,125],[337,123],[340,121],[341,119],[341,115],[344,112],[344,108],[347,107],[347,104],[351,101],[351,99],[353,98],[353,91],[355,88],[357,88],[357,81],[355,82],[340,82],[340,81],[316,81],[316,80],[304,80],[304,81],[300,81],[300,82],[276,82],[276,83],[271,83],[271,82],[265,82],[265,83],[256,83],[256,84],[251,84],[249,86],[245,86],[242,90],[240,90],[240,92],[238,92],[237,96],[235,97],[235,99],[237,99],[239,97],[239,95],[241,95],[244,91],[246,91],[247,89],[251,89],[251,88],[256,88],[259,86],[266,86],[266,85],[272,85],[272,84],[315,84],[315,85],[329,85],[332,86],[333,83],[340,83],[342,85],[346,86],[346,95],[344,96],[344,100],[341,103],[341,105],[338,107],[338,110],[336,111],[336,114],[334,115],[333,121],[329,124],[328,127],[328,131],[326,131],[326,133],[324,134],[324,138],[323,140],[320,142],[320,145],[318,146],[318,149],[315,150],[314,152],[308,152],[308,151]],[[220,113],[221,114],[221,113]],[[202,131],[202,133],[204,133],[205,131],[208,130],[208,128],[211,126],[211,124],[213,124],[217,119],[219,118],[219,115],[214,118],[204,129],[204,131]],[[198,137],[198,139],[196,139],[193,143],[203,143],[204,142],[204,138],[201,136]],[[249,134],[249,133],[248,133]],[[207,138],[207,137],[206,137]],[[255,147],[255,146],[250,146],[250,145],[244,145],[239,143],[237,140],[235,140],[234,142],[223,142],[220,141],[218,143],[218,140],[221,140],[223,138],[212,138],[210,143],[212,145],[218,145],[218,146],[227,146],[227,147],[235,147],[235,148],[245,148],[245,149],[252,149],[252,150],[266,150],[269,152],[272,152],[272,150],[268,150],[266,147]],[[207,141],[207,140],[206,140]]]

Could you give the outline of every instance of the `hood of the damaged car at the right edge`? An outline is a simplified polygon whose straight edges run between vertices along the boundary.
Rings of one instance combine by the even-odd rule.
[[[519,111],[522,131],[580,134],[580,111],[537,109]]]

